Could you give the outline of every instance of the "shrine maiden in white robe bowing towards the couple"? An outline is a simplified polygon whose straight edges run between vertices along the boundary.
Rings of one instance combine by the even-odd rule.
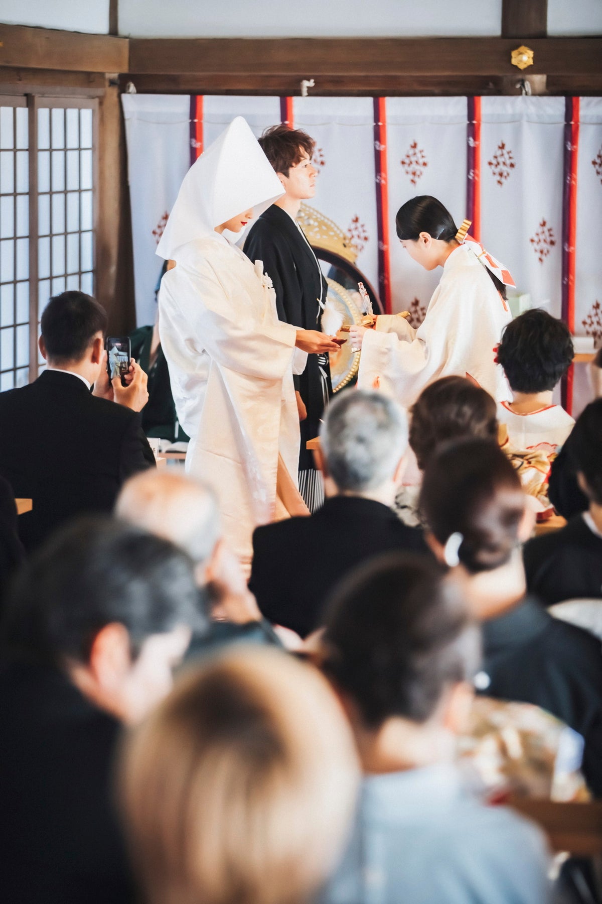
[[[443,268],[426,316],[413,329],[399,315],[381,315],[375,328],[351,327],[361,347],[358,386],[380,388],[409,406],[424,387],[449,374],[477,382],[496,400],[510,398],[494,346],[512,319],[505,287],[514,280],[483,246],[458,231],[436,198],[421,195],[403,204],[395,220],[408,254],[427,270]]]

